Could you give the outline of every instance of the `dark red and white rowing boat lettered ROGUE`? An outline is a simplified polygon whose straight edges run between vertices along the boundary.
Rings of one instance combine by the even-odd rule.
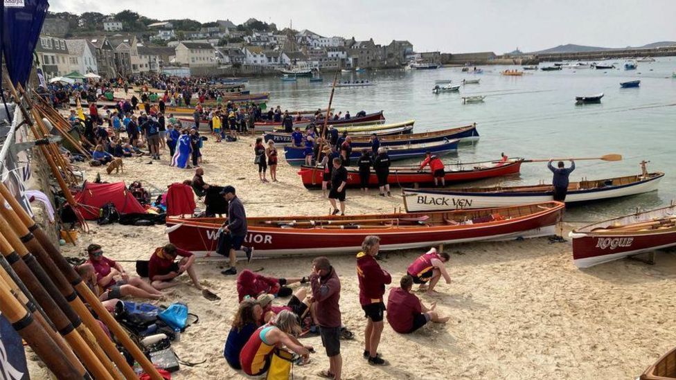
[[[676,206],[589,224],[569,237],[578,268],[676,246]]]

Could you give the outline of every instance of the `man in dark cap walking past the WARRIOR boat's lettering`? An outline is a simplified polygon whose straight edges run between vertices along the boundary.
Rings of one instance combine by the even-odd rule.
[[[247,237],[247,212],[244,211],[244,205],[235,194],[233,186],[224,187],[221,195],[228,201],[228,218],[221,226],[223,232],[220,235],[216,252],[221,255],[227,252],[230,259],[230,268],[221,273],[235,275],[237,274],[235,251],[242,249],[247,255],[247,261],[251,261],[251,255],[253,255],[253,247],[242,246],[244,238]]]

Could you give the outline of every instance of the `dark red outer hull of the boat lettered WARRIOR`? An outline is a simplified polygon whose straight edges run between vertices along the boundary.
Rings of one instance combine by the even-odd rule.
[[[549,204],[549,203],[548,203]],[[537,207],[533,205],[534,207]],[[552,235],[555,224],[563,214],[563,203],[549,204],[530,215],[479,224],[411,226],[390,228],[326,229],[326,228],[278,228],[249,225],[245,246],[253,246],[256,257],[279,255],[319,255],[359,251],[368,235],[380,237],[380,250],[391,251],[408,248],[427,248],[437,244],[464,242],[501,241],[519,237]],[[497,211],[499,212],[499,211]],[[446,213],[450,215],[450,213]],[[420,215],[422,216],[422,215]],[[416,217],[416,215],[364,215],[364,217]],[[308,219],[308,217],[297,217]],[[294,220],[296,217],[285,219]],[[331,220],[339,217],[317,217]],[[222,219],[167,219],[169,241],[177,247],[197,254],[215,251],[217,230]]]

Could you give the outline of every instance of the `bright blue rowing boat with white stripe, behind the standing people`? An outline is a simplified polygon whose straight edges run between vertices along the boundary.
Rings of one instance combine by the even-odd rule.
[[[443,155],[458,150],[459,139],[444,139],[443,141],[434,141],[432,143],[404,143],[402,145],[390,145],[387,147],[387,155],[391,161],[400,161],[405,159],[415,159],[425,155],[425,152]],[[350,159],[358,159],[361,155],[359,150],[353,150]],[[303,165],[305,163],[305,147],[284,147],[284,158],[290,165]]]

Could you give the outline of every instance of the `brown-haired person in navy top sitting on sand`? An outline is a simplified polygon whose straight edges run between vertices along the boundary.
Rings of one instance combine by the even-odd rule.
[[[242,347],[247,344],[253,332],[260,326],[258,321],[261,318],[263,318],[263,307],[260,307],[256,300],[247,298],[240,302],[223,347],[223,356],[233,370],[242,369],[240,365]]]

